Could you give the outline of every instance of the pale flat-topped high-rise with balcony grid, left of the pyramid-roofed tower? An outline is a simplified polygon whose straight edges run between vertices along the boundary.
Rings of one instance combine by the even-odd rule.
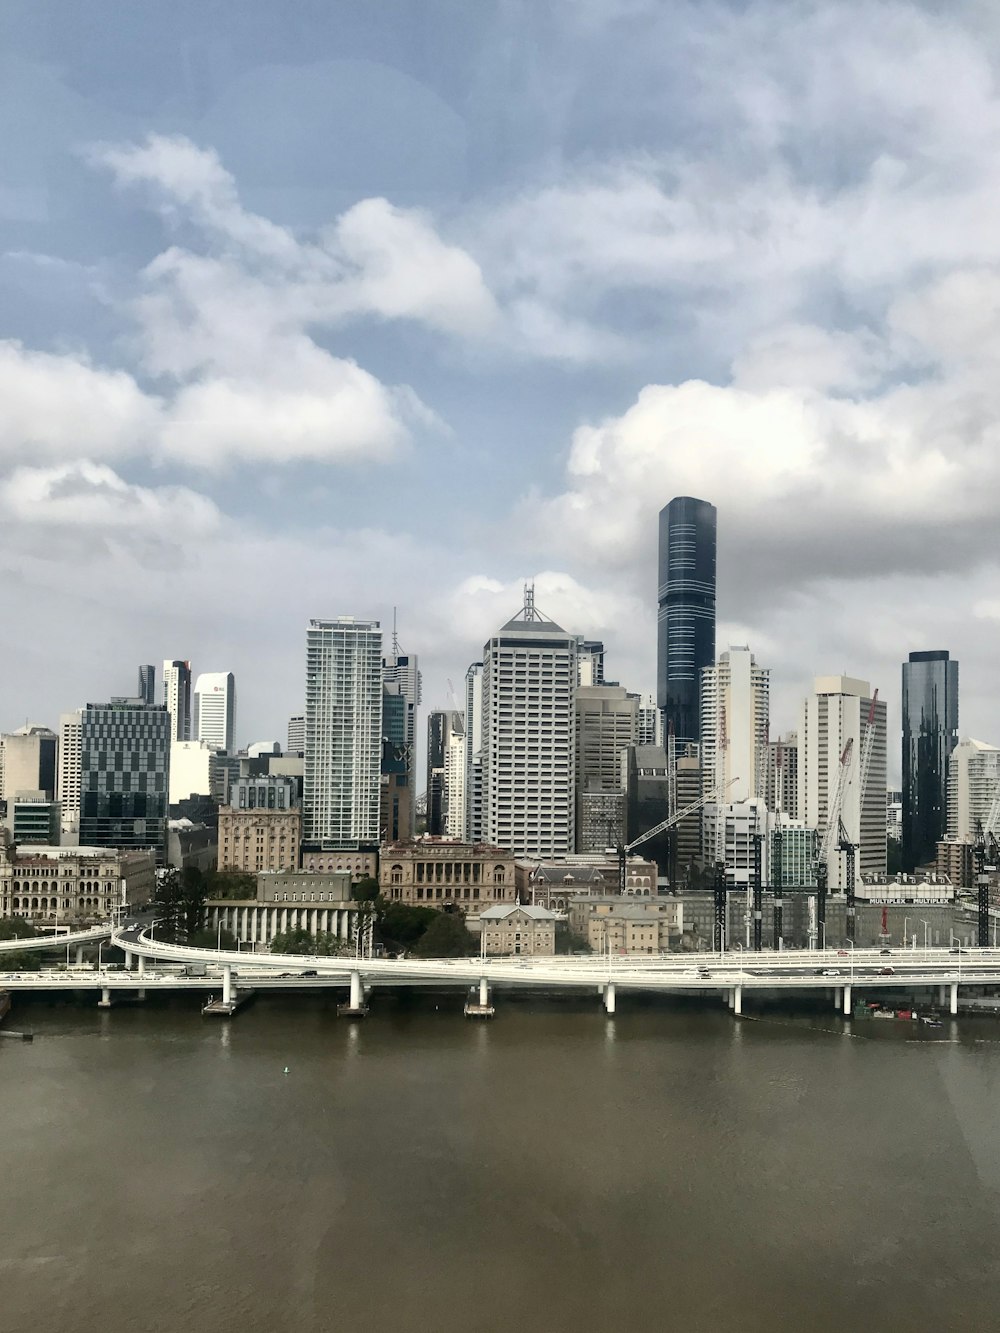
[[[379,841],[381,629],[311,620],[305,636],[303,840],[331,850]]]

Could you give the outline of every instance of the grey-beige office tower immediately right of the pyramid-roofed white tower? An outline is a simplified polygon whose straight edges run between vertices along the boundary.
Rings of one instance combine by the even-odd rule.
[[[576,850],[603,852],[625,834],[624,753],[636,744],[639,700],[621,685],[580,685],[576,712]]]

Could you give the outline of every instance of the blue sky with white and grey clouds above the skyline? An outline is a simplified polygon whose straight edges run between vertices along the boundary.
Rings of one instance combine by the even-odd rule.
[[[4,0],[0,726],[189,657],[283,737],[393,605],[444,706],[525,579],[651,689],[692,493],[773,733],[948,648],[1000,741],[999,68],[988,0]]]

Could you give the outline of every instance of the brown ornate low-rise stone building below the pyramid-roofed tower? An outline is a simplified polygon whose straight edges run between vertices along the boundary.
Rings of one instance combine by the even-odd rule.
[[[393,902],[480,913],[515,901],[515,860],[487,842],[436,837],[389,842],[381,852],[379,889]]]

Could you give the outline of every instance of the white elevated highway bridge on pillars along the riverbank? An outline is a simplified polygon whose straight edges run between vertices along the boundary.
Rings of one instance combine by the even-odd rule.
[[[100,938],[107,938],[107,934]],[[233,1006],[241,988],[344,988],[349,990],[349,1001],[343,1006],[348,1014],[364,1013],[365,993],[376,986],[477,990],[483,1008],[489,1004],[495,989],[589,992],[601,996],[608,1013],[615,1013],[619,992],[719,994],[736,1014],[743,1012],[745,993],[832,990],[836,1008],[849,1014],[857,988],[865,993],[937,988],[939,1002],[948,1004],[951,1013],[957,1013],[960,986],[1000,988],[1000,950],[973,948],[537,958],[324,958],[195,949],[157,941],[141,926],[116,929],[112,941],[125,952],[123,970],[0,972],[0,989],[100,989],[101,1004],[105,1005],[120,990],[221,990],[223,1005]]]

